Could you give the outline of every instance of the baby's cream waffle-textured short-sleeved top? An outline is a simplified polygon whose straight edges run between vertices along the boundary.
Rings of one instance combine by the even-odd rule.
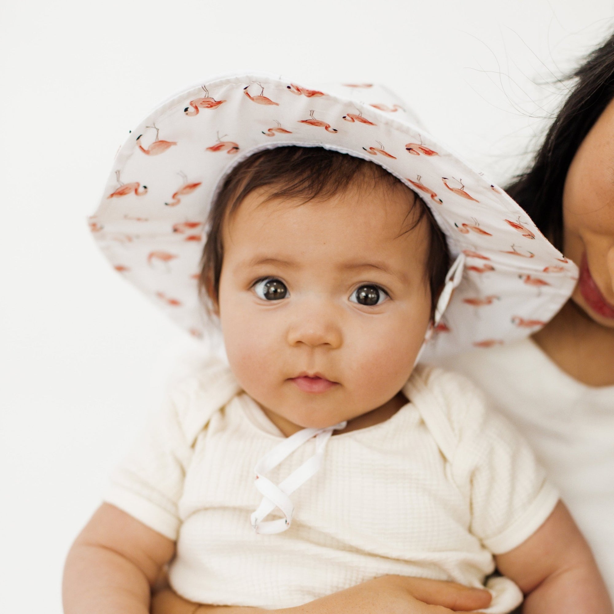
[[[176,387],[106,501],[177,540],[173,588],[204,603],[290,607],[387,573],[480,586],[492,553],[526,540],[558,494],[461,376],[418,367],[403,391],[410,403],[392,418],[328,441],[320,472],[292,494],[286,532],[257,535],[254,465],[281,433],[262,429],[262,410],[227,367],[209,362]],[[507,578],[489,588],[486,612],[510,612],[521,599]]]

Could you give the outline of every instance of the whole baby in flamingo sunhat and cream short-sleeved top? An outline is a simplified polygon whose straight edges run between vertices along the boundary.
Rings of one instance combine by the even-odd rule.
[[[120,151],[92,229],[195,334],[200,289],[228,363],[196,364],[115,472],[69,553],[66,614],[148,612],[167,563],[204,604],[293,608],[400,575],[486,586],[488,613],[523,593],[524,612],[612,612],[526,443],[464,378],[416,365],[556,313],[573,265],[523,282],[561,258],[523,211],[386,115],[389,94],[346,87],[219,80]]]

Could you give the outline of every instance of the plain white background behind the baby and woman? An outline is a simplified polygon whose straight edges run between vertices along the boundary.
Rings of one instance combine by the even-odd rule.
[[[61,612],[72,539],[157,406],[184,333],[85,217],[158,101],[248,68],[383,82],[504,183],[610,0],[4,0],[0,14],[0,612]],[[532,117],[533,116],[533,117]],[[534,119],[537,118],[537,119]]]

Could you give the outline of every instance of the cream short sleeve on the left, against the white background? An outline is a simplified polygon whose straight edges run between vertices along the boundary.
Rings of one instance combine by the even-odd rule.
[[[181,524],[177,503],[191,457],[176,402],[169,397],[112,473],[104,501],[175,541]]]

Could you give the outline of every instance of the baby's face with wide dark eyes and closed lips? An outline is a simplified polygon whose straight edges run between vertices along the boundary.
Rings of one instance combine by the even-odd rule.
[[[327,427],[387,403],[430,319],[429,227],[398,184],[328,200],[252,192],[225,223],[219,316],[230,367],[266,413]]]

